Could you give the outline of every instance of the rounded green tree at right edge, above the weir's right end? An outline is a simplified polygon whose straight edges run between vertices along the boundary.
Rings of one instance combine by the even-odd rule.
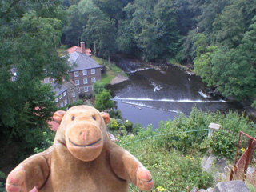
[[[256,71],[246,50],[219,50],[212,62],[213,79],[224,96],[245,99],[255,94]]]

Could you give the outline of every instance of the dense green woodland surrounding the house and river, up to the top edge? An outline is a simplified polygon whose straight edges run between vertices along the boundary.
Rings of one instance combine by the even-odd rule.
[[[254,0],[3,0],[0,25],[3,142],[42,142],[38,130],[56,106],[41,81],[67,78],[66,58],[56,51],[62,44],[85,41],[102,58],[175,58],[224,96],[255,98]]]

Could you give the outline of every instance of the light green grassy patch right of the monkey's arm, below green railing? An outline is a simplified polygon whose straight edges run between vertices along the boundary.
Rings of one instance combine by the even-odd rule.
[[[145,141],[142,148],[130,152],[150,170],[154,178],[154,188],[150,190],[152,192],[190,191],[194,186],[198,189],[214,186],[212,175],[202,171],[200,154],[185,156],[178,150],[169,151]],[[141,190],[130,184],[130,191]]]

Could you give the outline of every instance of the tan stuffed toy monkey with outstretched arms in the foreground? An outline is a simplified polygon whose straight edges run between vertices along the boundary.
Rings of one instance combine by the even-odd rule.
[[[106,133],[109,114],[91,106],[58,110],[60,124],[54,145],[26,158],[6,179],[8,192],[126,192],[128,182],[150,190],[149,170],[132,154],[111,142]]]

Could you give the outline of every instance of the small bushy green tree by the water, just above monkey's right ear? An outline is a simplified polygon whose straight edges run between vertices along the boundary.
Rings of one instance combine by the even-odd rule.
[[[111,94],[108,90],[103,90],[95,97],[95,108],[99,111],[107,110],[114,107],[114,102],[111,100]]]

